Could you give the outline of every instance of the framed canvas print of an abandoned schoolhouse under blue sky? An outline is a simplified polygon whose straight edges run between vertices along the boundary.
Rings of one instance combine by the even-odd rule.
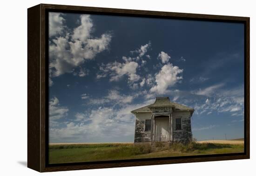
[[[28,9],[28,167],[249,158],[249,18]]]

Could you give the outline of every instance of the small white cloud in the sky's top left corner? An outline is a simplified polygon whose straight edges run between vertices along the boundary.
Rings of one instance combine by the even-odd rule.
[[[63,33],[65,19],[62,15],[62,13],[56,12],[49,13],[49,37]]]

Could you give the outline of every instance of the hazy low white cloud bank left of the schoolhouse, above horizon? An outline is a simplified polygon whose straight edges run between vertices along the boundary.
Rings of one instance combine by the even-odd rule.
[[[141,104],[126,104],[118,109],[98,107],[76,113],[73,122],[50,129],[50,142],[120,142],[125,137],[132,139],[135,117],[130,111],[153,102],[154,99],[151,99]]]

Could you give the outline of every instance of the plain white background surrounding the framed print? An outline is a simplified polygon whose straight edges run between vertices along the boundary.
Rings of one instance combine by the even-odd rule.
[[[256,11],[253,0],[5,0],[0,10],[0,174],[34,176],[27,164],[27,8],[39,3],[250,17],[251,159],[44,173],[48,176],[251,175],[255,173]],[[254,163],[254,164],[253,164]],[[171,172],[171,173],[170,173]],[[169,173],[169,174],[168,174]]]

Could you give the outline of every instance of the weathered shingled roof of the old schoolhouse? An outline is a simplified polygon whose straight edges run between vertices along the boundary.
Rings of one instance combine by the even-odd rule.
[[[151,112],[150,111],[151,107],[160,107],[160,106],[174,107],[175,111],[194,111],[193,108],[189,108],[188,106],[184,106],[182,104],[177,104],[177,103],[171,102],[168,97],[156,97],[155,98],[155,103],[149,104],[149,105],[141,107],[141,108],[138,108],[138,109],[133,110],[131,112],[132,113]]]

